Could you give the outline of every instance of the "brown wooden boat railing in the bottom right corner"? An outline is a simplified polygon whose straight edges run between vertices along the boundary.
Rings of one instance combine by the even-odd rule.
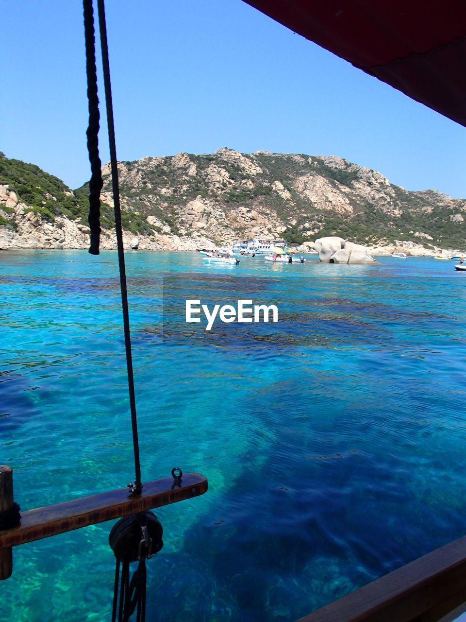
[[[466,602],[466,536],[298,622],[437,622]]]

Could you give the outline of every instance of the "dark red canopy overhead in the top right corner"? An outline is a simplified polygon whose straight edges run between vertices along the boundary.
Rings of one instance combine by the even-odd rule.
[[[244,0],[466,126],[464,0]]]

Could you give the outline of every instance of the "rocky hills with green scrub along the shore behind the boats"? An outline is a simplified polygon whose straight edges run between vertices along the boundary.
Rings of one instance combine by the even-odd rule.
[[[195,249],[279,236],[327,235],[379,248],[463,249],[466,200],[408,192],[335,156],[214,154],[118,165],[127,246]],[[110,167],[103,167],[101,248],[115,248]],[[34,165],[0,156],[0,247],[86,248],[87,185],[71,191]]]

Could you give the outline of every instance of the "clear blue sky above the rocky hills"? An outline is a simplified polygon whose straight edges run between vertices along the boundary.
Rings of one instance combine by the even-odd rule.
[[[466,129],[241,0],[107,0],[117,156],[336,155],[466,198]],[[2,4],[0,151],[89,179],[82,6]],[[98,58],[98,62],[100,59]],[[99,74],[101,114],[103,81]],[[107,162],[106,126],[100,135]]]

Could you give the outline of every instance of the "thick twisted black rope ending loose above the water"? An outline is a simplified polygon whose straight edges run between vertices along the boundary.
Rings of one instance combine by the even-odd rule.
[[[96,47],[94,39],[94,11],[92,0],[83,0],[84,29],[86,39],[86,73],[88,77],[89,126],[88,137],[91,180],[89,181],[89,228],[91,246],[89,253],[99,254],[100,242],[100,191],[103,187],[101,161],[99,158],[99,99],[97,96]]]

